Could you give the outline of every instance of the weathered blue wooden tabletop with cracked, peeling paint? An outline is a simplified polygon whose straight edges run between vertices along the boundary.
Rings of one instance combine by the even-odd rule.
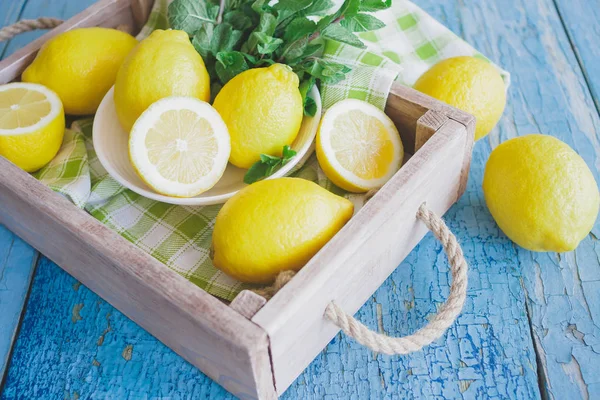
[[[0,0],[0,25],[92,2]],[[494,223],[481,182],[492,148],[535,132],[570,144],[600,181],[600,0],[417,3],[512,73],[504,117],[476,144],[468,190],[446,215],[471,267],[464,312],[410,356],[338,336],[283,397],[599,399],[600,224],[574,252],[525,251]],[[0,44],[0,56],[39,35]],[[429,235],[358,317],[407,334],[445,299],[448,275]],[[0,375],[2,399],[231,398],[2,226]]]

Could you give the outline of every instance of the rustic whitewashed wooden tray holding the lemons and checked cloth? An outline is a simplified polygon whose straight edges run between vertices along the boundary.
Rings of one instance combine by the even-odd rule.
[[[17,80],[58,33],[147,19],[152,0],[102,0],[0,62],[0,84]],[[427,202],[441,215],[465,190],[475,120],[395,85],[386,113],[414,155],[270,301],[248,291],[227,305],[0,157],[0,223],[228,391],[281,395],[337,334],[332,301],[355,313],[427,232]]]

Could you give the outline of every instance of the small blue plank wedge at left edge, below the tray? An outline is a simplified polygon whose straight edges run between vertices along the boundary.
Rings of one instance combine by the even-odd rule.
[[[37,251],[0,225],[0,386],[8,370],[37,258]]]

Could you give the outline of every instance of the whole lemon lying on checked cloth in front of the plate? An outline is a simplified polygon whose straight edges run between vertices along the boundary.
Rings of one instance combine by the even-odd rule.
[[[352,217],[352,202],[300,178],[254,183],[219,211],[215,267],[243,282],[269,283],[299,270]]]

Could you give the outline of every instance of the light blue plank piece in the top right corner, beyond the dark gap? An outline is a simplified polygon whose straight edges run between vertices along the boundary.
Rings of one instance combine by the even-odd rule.
[[[587,86],[600,111],[600,3],[597,0],[554,0]]]

